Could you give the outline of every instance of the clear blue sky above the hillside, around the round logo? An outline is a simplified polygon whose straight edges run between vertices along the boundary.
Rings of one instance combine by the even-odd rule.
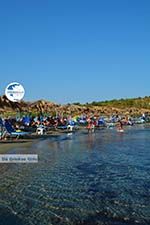
[[[149,0],[0,2],[0,95],[91,102],[150,95]]]

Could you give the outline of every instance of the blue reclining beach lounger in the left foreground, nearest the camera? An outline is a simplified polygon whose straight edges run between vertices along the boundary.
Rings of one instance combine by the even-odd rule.
[[[16,137],[16,138],[19,138],[19,137],[24,137],[24,136],[28,136],[29,134],[31,134],[30,132],[23,132],[23,131],[16,131],[11,123],[6,120],[5,121],[5,129],[7,131],[7,133],[10,135],[10,137]]]

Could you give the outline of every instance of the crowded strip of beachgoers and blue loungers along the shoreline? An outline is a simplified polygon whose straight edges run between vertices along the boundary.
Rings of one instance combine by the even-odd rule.
[[[139,120],[140,119],[140,120]],[[27,135],[44,135],[50,131],[67,131],[72,132],[80,128],[88,132],[94,132],[95,129],[106,127],[116,127],[118,131],[124,131],[124,126],[132,126],[135,123],[146,122],[146,116],[143,114],[140,118],[131,118],[129,116],[112,115],[94,116],[29,116],[0,118],[0,138],[24,137]]]

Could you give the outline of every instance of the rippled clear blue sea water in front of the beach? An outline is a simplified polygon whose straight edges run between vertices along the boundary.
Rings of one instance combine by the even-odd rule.
[[[63,135],[21,151],[39,163],[0,165],[0,224],[150,224],[150,128]]]

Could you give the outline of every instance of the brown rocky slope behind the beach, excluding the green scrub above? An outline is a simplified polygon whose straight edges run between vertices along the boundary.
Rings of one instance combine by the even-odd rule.
[[[143,113],[150,114],[150,109],[136,107],[112,107],[112,106],[84,106],[84,105],[58,105],[49,101],[39,100],[35,102],[11,102],[6,96],[0,97],[0,113],[16,113],[16,112],[32,112],[32,113],[51,113],[53,115],[141,115]]]

